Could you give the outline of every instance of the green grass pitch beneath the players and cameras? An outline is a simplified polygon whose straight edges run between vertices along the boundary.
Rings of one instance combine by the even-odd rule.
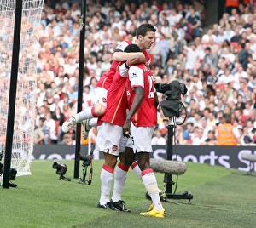
[[[73,161],[59,180],[54,161],[33,161],[32,175],[17,177],[18,187],[0,189],[0,227],[254,227],[256,224],[256,175],[207,164],[188,162],[177,181],[177,194],[191,191],[194,199],[164,202],[166,219],[144,217],[150,202],[141,180],[128,173],[123,200],[132,213],[96,208],[100,197],[102,160],[93,161],[91,185],[73,179]],[[81,163],[81,162],[80,162]],[[82,167],[79,168],[82,174]],[[89,172],[89,170],[88,170]],[[87,176],[88,177],[88,176]],[[163,189],[163,174],[156,174]],[[176,180],[172,176],[172,180]],[[174,187],[173,187],[174,190]]]

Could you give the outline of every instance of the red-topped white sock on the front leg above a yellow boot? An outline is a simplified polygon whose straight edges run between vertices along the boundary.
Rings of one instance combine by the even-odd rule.
[[[153,169],[148,168],[143,170],[142,177],[143,177],[143,185],[145,186],[146,190],[148,191],[148,195],[151,197],[151,200],[154,203],[155,210],[157,211],[162,210],[163,205],[162,205],[162,202],[160,201],[157,181],[156,181]]]

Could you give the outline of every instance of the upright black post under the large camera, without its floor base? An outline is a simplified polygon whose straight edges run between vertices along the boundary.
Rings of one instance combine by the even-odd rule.
[[[168,139],[167,139],[167,160],[172,161],[172,145],[173,145],[173,130],[174,123],[173,117],[169,117],[168,129]],[[166,193],[172,194],[172,174],[165,174],[165,183],[166,183]]]

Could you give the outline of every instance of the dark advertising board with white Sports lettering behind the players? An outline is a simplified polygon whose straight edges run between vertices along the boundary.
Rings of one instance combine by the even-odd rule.
[[[74,159],[75,145],[35,145],[33,159]],[[173,146],[172,160],[179,162],[207,163],[225,168],[237,168],[248,171],[249,162],[241,158],[241,154],[255,154],[256,146],[208,146],[208,145],[176,145]],[[81,154],[88,154],[88,146],[81,145]],[[94,159],[103,159],[99,151],[94,151]],[[167,159],[167,146],[153,145],[151,157]],[[256,166],[253,167],[256,172]]]

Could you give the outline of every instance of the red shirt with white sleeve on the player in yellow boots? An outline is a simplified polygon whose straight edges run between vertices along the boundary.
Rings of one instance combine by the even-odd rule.
[[[137,112],[131,118],[136,127],[154,127],[157,123],[157,111],[154,106],[154,77],[153,72],[145,65],[131,66],[128,71],[127,100],[128,108],[131,109],[135,97],[133,88],[143,87],[144,98]]]

